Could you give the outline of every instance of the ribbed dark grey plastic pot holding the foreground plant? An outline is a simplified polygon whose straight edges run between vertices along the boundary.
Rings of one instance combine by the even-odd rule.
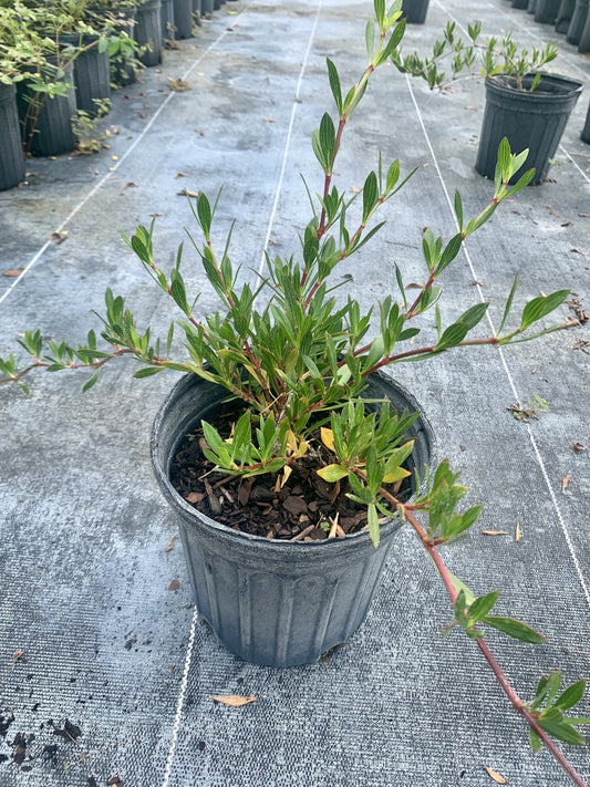
[[[373,375],[368,397],[420,411],[413,396]],[[199,614],[218,640],[248,662],[284,667],[317,662],[363,622],[400,520],[381,526],[375,549],[368,531],[304,543],[232,530],[197,511],[169,480],[173,457],[201,420],[215,420],[225,390],[183,377],[159,410],[151,452],[156,479],[179,522]],[[415,449],[408,469],[431,463],[432,428],[422,415],[408,433]]]

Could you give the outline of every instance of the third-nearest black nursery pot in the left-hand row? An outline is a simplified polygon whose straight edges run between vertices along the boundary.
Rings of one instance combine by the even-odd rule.
[[[82,51],[74,60],[75,102],[79,110],[95,116],[94,100],[111,97],[111,71],[108,52],[99,51],[97,35],[62,34],[60,41]]]

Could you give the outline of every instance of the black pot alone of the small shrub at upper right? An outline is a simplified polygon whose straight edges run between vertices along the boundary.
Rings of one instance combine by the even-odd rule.
[[[526,76],[525,86],[530,85],[531,81],[532,76]],[[582,86],[577,80],[546,73],[532,92],[517,90],[514,82],[507,84],[498,79],[487,79],[476,170],[494,178],[498,146],[503,137],[507,137],[513,153],[529,148],[527,160],[513,183],[531,167],[536,169],[532,183],[541,183]]]

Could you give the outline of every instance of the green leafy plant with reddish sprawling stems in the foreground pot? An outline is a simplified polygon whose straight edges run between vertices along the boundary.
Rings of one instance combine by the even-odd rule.
[[[474,640],[513,707],[525,717],[532,747],[547,746],[573,781],[583,785],[552,738],[584,743],[577,726],[590,719],[566,715],[582,700],[584,681],[563,690],[561,673],[555,671],[540,679],[532,701],[527,703],[516,694],[487,644],[486,630],[496,629],[528,643],[542,643],[545,638],[526,623],[494,614],[499,591],[476,597],[449,572],[441,556],[442,547],[466,536],[480,506],[459,509],[467,489],[457,483],[458,474],[446,459],[436,468],[425,468],[416,484],[416,497],[402,501],[396,485],[407,476],[403,464],[413,447],[404,434],[416,416],[391,412],[387,402],[371,411],[363,397],[370,375],[385,366],[425,361],[466,348],[515,344],[556,330],[559,325],[538,323],[563,302],[569,290],[532,298],[515,317],[515,281],[494,335],[474,335],[487,303],[472,306],[452,322],[444,319],[439,301],[445,269],[499,204],[514,197],[532,177],[528,172],[516,185],[508,185],[527,152],[514,154],[504,141],[489,204],[474,218],[466,218],[456,193],[457,232],[444,241],[431,229],[424,230],[425,278],[415,298],[407,299],[403,270],[397,267],[398,296],[387,296],[376,313],[363,312],[351,296],[337,300],[334,291],[342,284],[333,282],[334,270],[383,228],[384,221],[374,221],[376,214],[412,175],[402,176],[397,159],[384,166],[379,156],[359,194],[349,196],[333,182],[346,124],[373,73],[395,54],[404,34],[401,0],[389,9],[384,0],[374,0],[374,11],[375,18],[368,23],[365,33],[368,65],[359,81],[344,91],[337,66],[328,60],[335,112],[327,112],[313,133],[322,185],[315,195],[308,189],[310,219],[297,255],[267,256],[266,275],[259,283],[252,288],[247,281],[240,282],[239,268],[229,256],[231,232],[220,252],[215,248],[211,228],[220,195],[210,201],[199,191],[189,198],[189,206],[200,236],[188,238],[219,298],[219,311],[201,315],[198,293],[188,293],[182,273],[184,245],[178,248],[172,270],[166,272],[158,266],[153,221],[148,228],[139,226],[131,237],[122,235],[154,283],[179,309],[180,317],[170,323],[167,339],[154,341],[149,328],[137,327],[123,297],[107,290],[105,310],[100,315],[101,344],[94,330],[83,344],[50,340],[48,345],[40,330],[28,330],[19,343],[31,360],[21,365],[13,353],[0,359],[0,382],[14,382],[27,392],[23,379],[33,369],[56,372],[82,367],[92,373],[83,386],[87,391],[106,363],[130,356],[141,366],[135,377],[168,369],[219,385],[228,398],[242,402],[242,414],[227,437],[215,423],[203,423],[204,453],[216,468],[249,478],[272,474],[279,485],[284,485],[299,462],[315,458],[317,474],[334,486],[346,484],[348,496],[366,509],[375,548],[380,517],[401,517],[410,524],[448,592],[453,607],[449,629],[463,629]],[[421,342],[421,318],[427,313],[434,314],[435,339]],[[182,353],[176,356],[173,348],[178,328],[184,341]]]

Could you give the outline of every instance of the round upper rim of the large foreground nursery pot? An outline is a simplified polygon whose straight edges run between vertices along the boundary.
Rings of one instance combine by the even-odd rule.
[[[411,394],[407,392],[402,385],[400,385],[395,380],[390,377],[387,374],[385,374],[382,370],[377,370],[375,373],[375,376],[381,377],[383,381],[389,383],[390,385],[393,385],[403,396],[404,398],[407,400],[408,405],[412,408],[415,408],[415,412],[420,413],[420,422],[427,435],[428,442],[429,442],[429,465],[433,464],[434,457],[435,457],[435,436],[434,436],[434,431],[432,428],[432,425],[427,417],[424,415],[422,407],[418,405],[417,401]],[[152,458],[152,466],[154,469],[154,473],[156,475],[156,480],[158,481],[162,490],[165,493],[165,496],[168,498],[169,503],[173,506],[176,506],[180,509],[183,509],[186,514],[188,514],[192,518],[195,520],[199,521],[201,525],[215,530],[221,538],[228,538],[232,541],[237,540],[242,540],[245,541],[246,545],[256,545],[256,543],[263,543],[267,549],[271,550],[284,550],[284,549],[290,549],[293,553],[294,552],[308,552],[310,549],[313,549],[315,551],[323,549],[342,549],[345,548],[346,543],[358,543],[359,546],[362,545],[363,542],[369,542],[371,540],[371,536],[369,534],[369,530],[359,530],[358,532],[352,532],[352,534],[346,534],[344,537],[340,538],[325,538],[319,541],[291,541],[291,540],[282,540],[282,539],[275,539],[275,538],[265,538],[263,536],[256,536],[253,534],[249,532],[242,532],[241,530],[234,530],[227,525],[224,525],[221,522],[218,522],[216,519],[211,519],[211,517],[207,516],[203,511],[199,511],[197,508],[192,506],[189,503],[187,503],[174,488],[172,485],[170,479],[168,478],[168,473],[165,470],[165,468],[162,467],[162,464],[159,462],[159,455],[158,455],[158,433],[161,428],[161,424],[165,417],[166,411],[173,400],[176,398],[176,393],[177,390],[182,386],[188,385],[190,382],[193,382],[193,379],[197,377],[198,375],[195,373],[187,373],[180,380],[178,380],[175,385],[172,387],[172,390],[168,392],[166,398],[159,406],[156,416],[154,418],[153,425],[152,425],[152,433],[149,437],[149,454]],[[203,381],[204,383],[206,381]],[[424,478],[421,479],[421,487],[420,489],[424,488]],[[380,537],[384,538],[396,530],[401,529],[403,526],[403,521],[401,517],[397,518],[390,518],[386,519],[384,522],[380,525]]]

